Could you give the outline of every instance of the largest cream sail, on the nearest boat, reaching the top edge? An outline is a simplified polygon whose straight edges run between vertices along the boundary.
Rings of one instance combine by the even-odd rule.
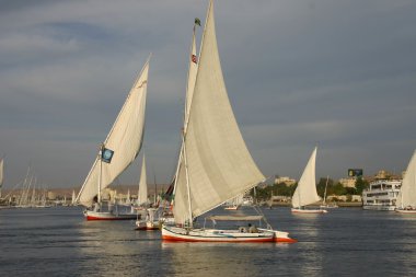
[[[176,223],[190,222],[264,180],[245,146],[228,99],[212,2],[208,8],[184,141],[174,196]]]

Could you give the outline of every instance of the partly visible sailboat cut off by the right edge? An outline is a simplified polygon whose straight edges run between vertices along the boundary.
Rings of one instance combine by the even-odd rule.
[[[402,187],[397,196],[395,211],[401,213],[416,213],[416,151],[408,162]]]

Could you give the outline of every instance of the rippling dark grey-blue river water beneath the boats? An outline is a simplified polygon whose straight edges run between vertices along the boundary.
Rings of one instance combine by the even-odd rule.
[[[0,276],[416,276],[416,217],[265,209],[296,244],[163,243],[81,208],[0,210]]]

